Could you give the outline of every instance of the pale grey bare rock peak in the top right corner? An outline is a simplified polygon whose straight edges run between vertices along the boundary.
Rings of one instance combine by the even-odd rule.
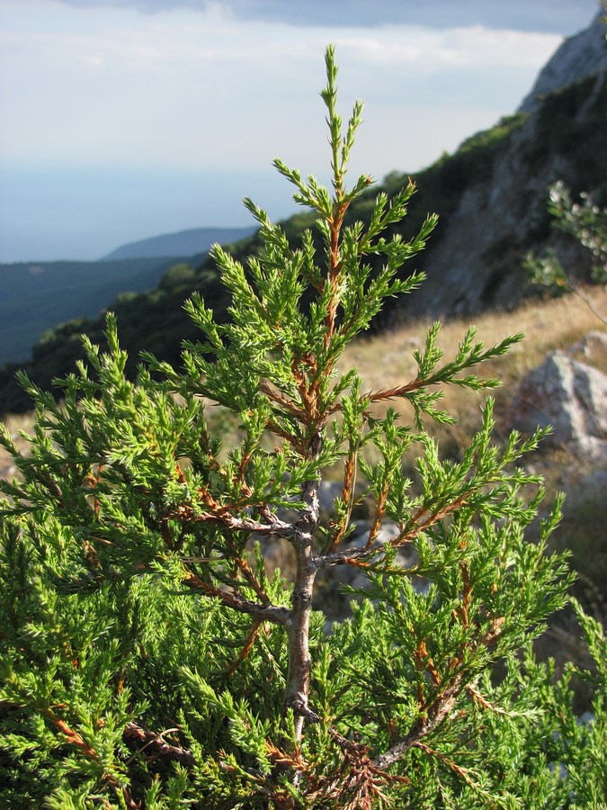
[[[531,93],[522,101],[519,112],[532,112],[540,105],[542,96],[554,93],[585,76],[607,70],[603,17],[603,12],[599,12],[590,28],[563,42],[542,68]]]

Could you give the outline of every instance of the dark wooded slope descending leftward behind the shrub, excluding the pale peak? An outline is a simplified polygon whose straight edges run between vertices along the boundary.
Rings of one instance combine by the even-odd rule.
[[[546,203],[549,184],[557,179],[574,193],[590,191],[597,202],[607,196],[607,81],[605,74],[590,76],[549,95],[530,114],[505,118],[491,130],[465,141],[451,156],[413,175],[417,193],[409,205],[402,233],[411,238],[428,212],[439,214],[431,247],[417,262],[428,281],[415,295],[415,314],[443,317],[510,308],[529,292],[524,283],[522,257],[530,249],[549,245],[565,248],[578,275],[588,273],[584,255],[567,245],[567,237],[550,226]],[[394,193],[406,184],[406,173],[388,175],[353,205],[349,220],[368,220],[380,191]],[[288,238],[299,238],[313,225],[308,214],[283,223]],[[256,238],[231,247],[245,262],[260,248]],[[406,267],[410,273],[414,268]],[[473,283],[472,283],[473,282]],[[151,293],[122,298],[112,304],[118,316],[121,343],[129,352],[131,368],[146,348],[161,359],[178,363],[183,339],[197,337],[183,301],[198,290],[219,317],[228,299],[218,284],[212,261],[201,266],[175,266]],[[384,311],[371,329],[383,329],[406,318],[406,302]],[[103,337],[103,317],[79,319],[48,333],[34,347],[24,365],[31,378],[50,387],[56,376],[67,374],[82,356],[80,335],[94,341]],[[17,365],[0,370],[0,412],[29,407],[14,381]]]

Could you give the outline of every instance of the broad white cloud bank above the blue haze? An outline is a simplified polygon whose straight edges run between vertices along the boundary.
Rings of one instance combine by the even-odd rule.
[[[344,100],[361,95],[380,112],[393,104],[388,120],[375,121],[369,144],[383,154],[379,169],[388,170],[387,160],[399,163],[379,140],[389,121],[402,127],[411,110],[419,115],[424,107],[460,104],[476,109],[471,126],[483,111],[488,125],[512,111],[559,42],[553,34],[479,26],[295,28],[243,22],[218,4],[205,13],[84,14],[49,0],[21,0],[4,2],[2,11],[9,123],[0,149],[19,160],[261,166],[281,146],[298,151],[293,145],[304,160],[316,159],[303,128],[308,116],[322,127],[322,52],[334,41]],[[513,89],[501,100],[490,85],[500,76],[504,84],[506,72]],[[425,136],[426,144],[440,139],[435,134]],[[419,164],[425,155],[411,159]]]

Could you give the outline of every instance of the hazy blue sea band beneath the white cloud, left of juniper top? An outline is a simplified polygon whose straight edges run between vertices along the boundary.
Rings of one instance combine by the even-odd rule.
[[[246,228],[250,196],[272,219],[296,210],[259,170],[0,163],[0,262],[94,261],[127,242],[203,226]]]

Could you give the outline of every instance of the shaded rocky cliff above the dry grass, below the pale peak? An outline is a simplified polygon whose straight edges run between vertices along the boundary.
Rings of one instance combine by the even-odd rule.
[[[557,247],[573,274],[584,278],[587,251],[551,228],[548,189],[561,179],[575,194],[589,191],[603,202],[606,167],[603,71],[549,95],[495,149],[483,174],[461,184],[424,257],[429,279],[415,306],[464,314],[518,302],[525,292],[522,257],[530,248]]]

